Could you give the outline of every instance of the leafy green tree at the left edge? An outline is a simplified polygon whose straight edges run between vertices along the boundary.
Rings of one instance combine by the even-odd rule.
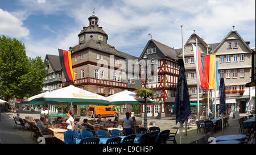
[[[0,36],[0,87],[6,100],[39,94],[46,73],[40,57],[28,58],[19,40]]]

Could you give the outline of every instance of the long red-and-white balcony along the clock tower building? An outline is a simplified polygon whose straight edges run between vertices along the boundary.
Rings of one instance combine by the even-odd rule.
[[[74,85],[74,86],[80,86],[80,85],[99,85],[99,86],[108,86],[108,87],[119,87],[123,89],[127,89],[128,85],[127,83],[122,83],[122,82],[116,82],[116,81],[109,81],[106,79],[97,79],[97,78],[80,78],[80,79],[75,79],[75,81],[66,81],[62,82],[62,87],[67,87],[69,85]]]

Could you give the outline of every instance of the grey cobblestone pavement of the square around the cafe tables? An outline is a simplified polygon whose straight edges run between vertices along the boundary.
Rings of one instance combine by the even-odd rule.
[[[32,116],[32,118],[34,119],[39,119],[39,112],[26,112],[23,111],[20,114],[21,118],[25,118],[25,116]],[[30,137],[30,133],[28,131],[22,131],[19,129],[14,129],[13,125],[14,125],[14,121],[13,121],[13,116],[15,116],[16,113],[4,113],[2,114],[2,122],[1,122],[1,139],[3,141],[3,143],[35,143],[35,141],[32,141],[29,137]],[[240,117],[245,116],[248,114],[240,114]],[[121,115],[119,117],[119,119],[124,118],[124,115]],[[83,119],[89,119],[90,118],[88,116],[81,116],[80,122],[82,122]],[[135,118],[137,120],[142,120],[144,121],[144,118],[141,118],[140,116],[135,115]],[[113,117],[107,118],[107,119],[112,119],[114,120]],[[175,118],[161,118],[161,119],[156,119],[156,118],[148,118],[147,119],[148,124],[150,122],[156,122],[156,125],[162,130],[164,129],[170,129],[171,132],[176,132],[176,129],[179,128],[179,123],[175,124]],[[3,125],[5,125],[3,127]],[[232,134],[238,134],[239,132],[239,127],[240,125],[238,124],[238,119],[229,119],[229,126],[226,127],[224,129],[224,133],[222,133],[221,131],[218,131],[217,133],[214,133],[214,137],[217,136],[222,136],[222,135],[232,135]],[[198,132],[197,131],[197,127],[196,124],[189,126],[189,128],[187,129],[187,136],[185,136],[185,130],[183,129],[183,136],[182,136],[182,143],[189,143],[193,140],[196,140],[198,137],[203,136],[205,133],[204,132]],[[7,136],[8,135],[8,136]],[[13,136],[13,137],[11,137]],[[7,138],[7,137],[11,137],[11,138]],[[176,136],[176,141],[177,143],[179,143],[179,131],[177,132],[177,136]],[[167,143],[172,143],[172,142],[167,142]]]

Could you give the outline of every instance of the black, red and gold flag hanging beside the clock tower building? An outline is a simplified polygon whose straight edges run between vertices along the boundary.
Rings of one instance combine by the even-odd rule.
[[[74,81],[74,74],[71,62],[71,52],[59,49],[60,65],[64,73],[65,79]]]

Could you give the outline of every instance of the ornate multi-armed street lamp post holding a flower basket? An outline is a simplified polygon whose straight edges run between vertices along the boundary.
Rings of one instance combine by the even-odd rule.
[[[150,60],[150,58],[147,57],[146,53],[143,56],[143,59],[146,60],[146,66],[145,66],[145,79],[144,79],[144,89],[147,89],[147,60]],[[154,58],[151,59],[151,65],[154,65]],[[139,62],[137,61],[135,65],[139,65]],[[152,66],[151,66],[152,70]],[[147,98],[144,97],[144,128],[147,129]]]

